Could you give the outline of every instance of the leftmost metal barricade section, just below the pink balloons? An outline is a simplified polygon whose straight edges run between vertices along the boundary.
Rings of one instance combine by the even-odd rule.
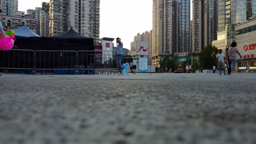
[[[0,69],[6,72],[19,70],[20,73],[33,73],[34,51],[20,49],[0,51]]]

